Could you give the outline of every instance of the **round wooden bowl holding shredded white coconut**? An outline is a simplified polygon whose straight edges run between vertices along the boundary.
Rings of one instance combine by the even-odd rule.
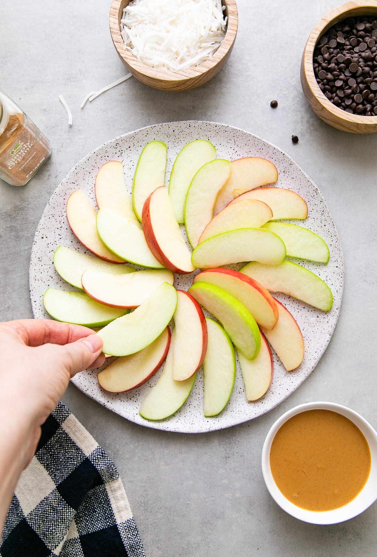
[[[130,0],[113,0],[110,8],[110,32],[119,57],[128,71],[146,85],[164,91],[186,91],[203,85],[214,77],[229,58],[237,34],[238,13],[235,0],[223,0],[228,17],[225,38],[213,56],[199,66],[182,71],[156,70],[137,60],[125,46],[121,36],[123,8]]]

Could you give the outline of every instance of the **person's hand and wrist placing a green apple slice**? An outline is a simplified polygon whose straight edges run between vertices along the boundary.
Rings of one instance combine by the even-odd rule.
[[[0,323],[0,532],[42,424],[73,375],[103,364],[101,350],[102,339],[80,325],[43,319]]]

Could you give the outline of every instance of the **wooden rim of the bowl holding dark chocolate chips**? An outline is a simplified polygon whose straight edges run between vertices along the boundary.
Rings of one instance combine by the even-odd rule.
[[[323,35],[324,31],[330,29],[332,24],[337,21],[341,21],[341,19],[345,19],[348,12],[351,12],[358,8],[376,8],[377,9],[377,0],[368,0],[367,2],[363,0],[351,0],[350,2],[346,2],[341,4],[340,6],[331,9],[330,12],[326,13],[326,15],[319,20],[319,22],[315,25],[314,29],[309,35],[308,40],[306,41],[305,49],[304,49],[304,71],[306,76],[310,75],[314,80],[314,87],[312,85],[312,80],[307,80],[307,84],[310,87],[310,90],[313,95],[315,95],[316,99],[323,105],[323,107],[333,114],[335,118],[341,119],[343,121],[349,122],[350,124],[363,124],[363,125],[376,125],[377,124],[377,115],[376,116],[359,116],[358,114],[350,114],[345,110],[338,108],[338,106],[334,106],[332,102],[329,101],[324,95],[324,93],[320,90],[319,85],[316,81],[314,75],[314,68],[313,68],[313,54],[315,46]],[[341,9],[341,11],[339,11]],[[366,14],[368,15],[368,14]],[[313,45],[313,46],[312,46]]]

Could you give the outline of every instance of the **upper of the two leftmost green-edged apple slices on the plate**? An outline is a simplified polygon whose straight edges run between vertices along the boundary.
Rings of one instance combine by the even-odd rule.
[[[98,257],[86,255],[86,253],[78,253],[64,246],[56,248],[53,261],[59,275],[72,286],[76,286],[76,288],[81,290],[81,277],[82,273],[86,270],[100,271],[110,275],[127,275],[128,273],[135,272],[135,269],[129,265],[110,263],[103,259],[98,259]]]

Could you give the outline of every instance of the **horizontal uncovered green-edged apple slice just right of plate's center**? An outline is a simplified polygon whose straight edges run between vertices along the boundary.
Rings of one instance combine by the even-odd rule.
[[[241,261],[277,265],[285,259],[284,242],[264,228],[240,228],[205,240],[192,252],[192,265],[201,269]]]

